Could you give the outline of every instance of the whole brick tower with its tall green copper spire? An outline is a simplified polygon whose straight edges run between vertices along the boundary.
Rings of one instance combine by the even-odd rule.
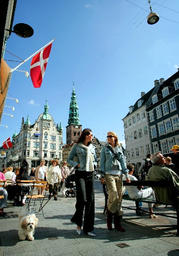
[[[72,144],[77,141],[82,133],[82,125],[80,124],[78,114],[78,104],[76,101],[76,94],[74,91],[74,83],[72,90],[72,97],[69,110],[68,126],[66,126],[66,143]]]

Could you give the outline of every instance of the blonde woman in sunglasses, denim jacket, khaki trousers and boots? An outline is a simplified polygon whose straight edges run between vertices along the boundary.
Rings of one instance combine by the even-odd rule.
[[[100,155],[101,183],[105,184],[106,182],[108,189],[107,228],[112,230],[112,218],[114,216],[114,228],[124,232],[125,229],[120,225],[123,213],[121,209],[122,173],[125,174],[127,182],[131,181],[118,136],[114,132],[108,132],[107,142],[107,145],[102,147]]]

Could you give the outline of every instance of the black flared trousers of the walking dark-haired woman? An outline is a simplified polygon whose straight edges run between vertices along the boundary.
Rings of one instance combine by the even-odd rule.
[[[76,184],[76,212],[71,221],[79,227],[83,225],[84,233],[94,229],[95,219],[95,194],[94,194],[94,172],[75,171]]]

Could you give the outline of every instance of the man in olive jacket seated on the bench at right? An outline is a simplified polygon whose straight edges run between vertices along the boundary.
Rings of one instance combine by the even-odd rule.
[[[179,197],[179,176],[165,166],[166,160],[160,151],[152,155],[152,162],[153,166],[148,172],[149,180],[166,180],[166,177],[169,177],[176,188],[176,197]],[[169,205],[173,204],[171,191],[168,187],[154,187],[154,191],[158,201]]]

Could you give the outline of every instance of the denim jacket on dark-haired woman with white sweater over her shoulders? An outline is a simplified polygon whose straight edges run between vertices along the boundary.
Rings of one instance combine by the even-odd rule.
[[[94,156],[95,161],[93,163],[96,167],[97,158],[96,158],[96,154],[95,154],[95,146],[92,146],[90,151]],[[74,157],[77,158],[77,160],[75,159],[77,162],[73,161]],[[68,155],[67,162],[72,167],[75,167],[78,164],[80,164],[80,167],[78,168],[78,170],[84,171],[86,169],[86,150],[84,148],[78,146],[78,143],[74,144],[74,146],[71,148],[70,153]]]

